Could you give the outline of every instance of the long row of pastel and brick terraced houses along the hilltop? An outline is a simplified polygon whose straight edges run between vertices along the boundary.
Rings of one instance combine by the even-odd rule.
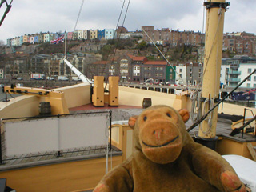
[[[25,34],[20,37],[7,39],[7,46],[22,46],[23,43],[50,42],[58,38],[58,33]],[[194,31],[170,30],[169,28],[154,29],[154,26],[142,26],[140,31],[128,31],[125,27],[118,27],[117,30],[75,30],[66,33],[66,38],[71,40],[89,39],[113,39],[113,38],[142,38],[147,43],[158,45],[182,46],[203,46],[205,34]],[[223,38],[223,50],[236,54],[256,54],[256,36],[251,33],[226,33]]]

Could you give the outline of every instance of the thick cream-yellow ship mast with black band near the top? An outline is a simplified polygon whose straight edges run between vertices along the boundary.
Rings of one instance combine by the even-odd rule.
[[[220,71],[222,65],[222,41],[224,14],[230,3],[226,0],[204,2],[206,6],[206,38],[202,80],[202,115],[218,102]],[[198,136],[205,140],[216,139],[218,110],[208,115],[199,127]]]

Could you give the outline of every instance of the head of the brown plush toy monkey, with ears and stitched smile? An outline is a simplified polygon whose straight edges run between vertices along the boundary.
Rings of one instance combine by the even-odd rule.
[[[186,141],[185,122],[190,118],[187,110],[174,110],[170,106],[151,106],[142,114],[131,117],[135,148],[142,150],[150,161],[166,164],[174,162]]]

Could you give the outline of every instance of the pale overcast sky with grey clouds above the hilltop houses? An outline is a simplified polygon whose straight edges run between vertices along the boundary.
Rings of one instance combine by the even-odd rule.
[[[10,0],[7,0],[10,2]],[[84,0],[77,30],[114,29],[123,0]],[[126,6],[129,0],[126,0]],[[230,0],[224,32],[256,34],[256,1]],[[82,0],[14,0],[0,26],[0,40],[37,32],[73,31]],[[202,31],[202,0],[130,0],[125,25],[130,31],[141,26]],[[0,9],[0,18],[5,6]],[[125,10],[123,14],[125,14]],[[123,16],[122,16],[123,18]],[[122,26],[122,19],[119,23]],[[204,29],[205,30],[205,29]]]

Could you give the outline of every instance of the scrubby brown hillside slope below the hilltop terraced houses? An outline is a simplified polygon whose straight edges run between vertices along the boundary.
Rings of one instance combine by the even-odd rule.
[[[9,60],[8,58],[17,58],[21,56],[31,56],[34,54],[55,54],[64,53],[64,43],[50,44],[50,42],[42,44],[25,44],[18,47],[0,47],[0,61]],[[158,46],[162,54],[170,60],[170,62],[198,62],[198,48],[196,46],[175,46],[170,45]],[[118,50],[118,51],[117,51]],[[102,54],[105,60],[110,59],[110,55],[118,57],[122,53],[130,53],[134,55],[146,56],[149,59],[164,59],[162,54],[154,45],[147,45],[146,42],[138,41],[138,39],[119,39],[109,41],[87,40],[87,41],[69,41],[66,44],[66,53],[75,52],[82,53],[98,53]]]

